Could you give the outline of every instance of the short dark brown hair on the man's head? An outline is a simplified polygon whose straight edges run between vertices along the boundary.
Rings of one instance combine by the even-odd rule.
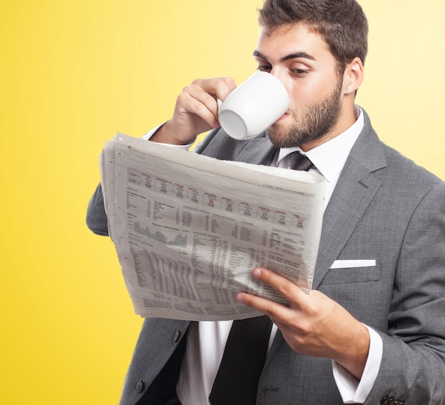
[[[267,32],[304,23],[328,44],[340,70],[368,53],[368,20],[355,0],[264,0],[259,25]]]

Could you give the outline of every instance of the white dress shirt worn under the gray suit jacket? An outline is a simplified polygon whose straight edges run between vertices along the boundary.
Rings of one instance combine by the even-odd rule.
[[[316,167],[311,168],[310,171],[321,174],[326,178],[325,208],[331,199],[343,166],[345,166],[350,149],[363,129],[363,112],[358,107],[356,107],[355,112],[358,119],[343,134],[311,149],[307,153],[302,152],[300,148],[282,148],[274,156],[271,163],[271,166],[289,168],[289,153],[300,151],[306,154]],[[157,129],[159,129],[159,126],[144,135],[143,139],[150,139]],[[188,149],[190,146],[176,147]],[[333,159],[332,156],[336,158]],[[188,328],[186,354],[184,355],[181,373],[176,386],[176,392],[181,404],[210,405],[208,397],[223,358],[225,343],[227,342],[232,322],[232,320],[225,320],[191,323]],[[382,339],[375,330],[368,326],[367,328],[370,333],[370,351],[360,381],[341,367],[341,365],[333,362],[333,376],[344,404],[363,404],[377,378],[382,360]],[[273,325],[268,350],[272,346],[276,333],[277,326]]]

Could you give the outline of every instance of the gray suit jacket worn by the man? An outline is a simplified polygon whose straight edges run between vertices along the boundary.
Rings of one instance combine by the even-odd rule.
[[[198,153],[269,164],[274,146],[211,132]],[[87,223],[107,234],[102,193]],[[330,269],[337,259],[375,267]],[[445,404],[445,185],[365,128],[353,146],[323,218],[316,288],[383,341],[380,371],[365,404]],[[135,404],[186,336],[188,322],[146,319],[125,379],[122,404]],[[178,360],[180,362],[180,360]],[[389,403],[389,402],[388,402]],[[257,404],[343,404],[331,360],[299,355],[277,334],[259,381]]]

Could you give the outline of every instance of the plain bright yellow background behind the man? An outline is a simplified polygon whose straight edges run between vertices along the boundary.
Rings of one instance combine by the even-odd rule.
[[[112,243],[85,227],[99,153],[168,119],[195,77],[248,77],[261,3],[1,2],[1,404],[117,403],[141,319]],[[361,1],[358,103],[445,179],[445,6],[427,3]]]

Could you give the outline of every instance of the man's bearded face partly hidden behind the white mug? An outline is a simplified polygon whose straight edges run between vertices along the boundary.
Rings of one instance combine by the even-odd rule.
[[[275,146],[307,151],[343,132],[343,77],[321,36],[302,24],[262,31],[254,57],[289,93],[288,111],[268,129]]]

